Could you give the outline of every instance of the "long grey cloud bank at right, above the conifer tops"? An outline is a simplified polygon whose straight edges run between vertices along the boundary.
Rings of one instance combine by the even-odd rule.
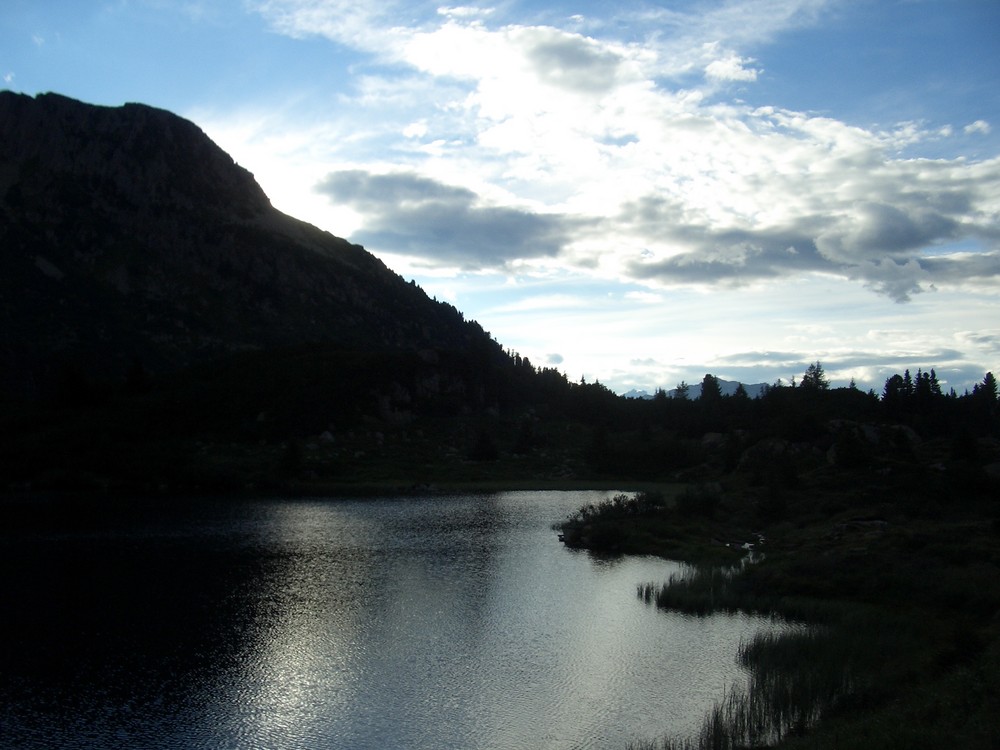
[[[957,195],[917,202],[965,205]],[[633,260],[627,272],[643,281],[729,286],[828,273],[860,281],[896,302],[908,302],[938,283],[1000,277],[1000,252],[927,255],[927,248],[961,237],[957,220],[930,208],[868,202],[848,217],[803,215],[766,230],[717,230],[687,217],[680,202],[658,196],[626,206],[620,221],[627,231],[681,250],[660,260]]]

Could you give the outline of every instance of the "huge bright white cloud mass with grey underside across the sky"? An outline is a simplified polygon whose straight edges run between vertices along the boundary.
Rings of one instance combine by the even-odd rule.
[[[757,80],[740,50],[815,23],[823,0],[646,9],[645,28],[658,31],[624,40],[596,21],[592,36],[505,23],[502,9],[425,8],[402,26],[391,2],[258,7],[284,33],[325,35],[393,66],[350,104],[405,118],[356,139],[358,153],[399,161],[336,171],[319,187],[357,212],[353,236],[376,251],[467,269],[557,261],[647,286],[819,274],[898,302],[997,278],[1000,159],[899,156],[951,126],[870,130],[713,98]],[[389,130],[404,142],[387,143]]]

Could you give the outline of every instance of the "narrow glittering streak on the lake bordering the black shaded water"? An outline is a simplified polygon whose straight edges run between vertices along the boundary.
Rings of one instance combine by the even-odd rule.
[[[250,747],[330,736],[349,713],[365,658],[366,605],[376,529],[323,503],[275,504],[260,540],[265,575],[241,592],[253,621],[230,678],[231,731]],[[336,734],[331,737],[335,738]]]

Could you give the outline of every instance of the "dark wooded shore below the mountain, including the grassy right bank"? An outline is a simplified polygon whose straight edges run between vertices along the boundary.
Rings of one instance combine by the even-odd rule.
[[[695,564],[640,587],[650,606],[803,627],[744,644],[748,682],[700,736],[637,747],[997,747],[992,375],[961,396],[920,373],[880,395],[804,381],[722,396],[707,376],[696,401],[629,400],[480,356],[300,347],[103,385],[70,372],[49,398],[3,404],[0,480],[129,495],[646,487],[582,508],[566,543]]]

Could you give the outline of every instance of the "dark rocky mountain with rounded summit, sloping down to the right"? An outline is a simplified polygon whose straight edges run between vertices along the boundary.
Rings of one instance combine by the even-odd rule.
[[[499,352],[358,245],[273,208],[196,125],[0,92],[0,388],[322,343]]]

